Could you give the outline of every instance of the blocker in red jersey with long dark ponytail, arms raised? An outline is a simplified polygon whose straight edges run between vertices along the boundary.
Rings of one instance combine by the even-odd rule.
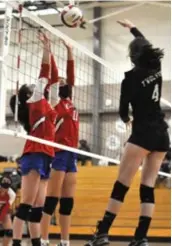
[[[18,93],[18,118],[28,134],[54,141],[56,112],[45,98],[45,90],[51,85],[50,43],[45,35],[40,35],[43,43],[43,59],[39,80],[35,87],[23,85]],[[11,108],[15,111],[15,96]],[[20,246],[23,223],[29,221],[32,245],[40,246],[40,221],[45,201],[50,163],[54,148],[30,140],[26,141],[20,159],[22,171],[21,203],[14,219],[13,246]]]

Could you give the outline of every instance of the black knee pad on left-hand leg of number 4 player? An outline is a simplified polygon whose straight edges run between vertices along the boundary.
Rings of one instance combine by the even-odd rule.
[[[119,202],[123,202],[128,190],[129,187],[123,185],[119,181],[116,181],[111,193],[111,198]]]

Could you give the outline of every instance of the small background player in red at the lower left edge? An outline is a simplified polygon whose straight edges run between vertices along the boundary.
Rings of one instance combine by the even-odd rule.
[[[0,224],[4,230],[3,246],[8,246],[12,239],[12,220],[10,206],[16,198],[15,192],[10,188],[12,184],[9,176],[3,176],[0,182]]]

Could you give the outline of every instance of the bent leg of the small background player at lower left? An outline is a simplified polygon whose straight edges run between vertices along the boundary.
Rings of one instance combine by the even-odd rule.
[[[13,230],[12,230],[12,220],[11,220],[11,216],[8,213],[3,222],[2,222],[2,226],[4,228],[4,238],[3,238],[3,246],[8,246],[11,242],[12,236],[13,236]]]

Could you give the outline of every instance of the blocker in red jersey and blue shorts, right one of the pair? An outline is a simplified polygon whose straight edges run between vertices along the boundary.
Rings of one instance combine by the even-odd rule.
[[[63,43],[68,52],[67,79],[59,77],[60,101],[55,106],[57,112],[55,141],[77,148],[79,117],[72,102],[72,87],[74,86],[73,52],[69,45],[64,41]],[[56,67],[55,63],[54,66]],[[61,149],[55,149],[55,152],[41,221],[42,245],[49,244],[49,224],[59,201],[59,223],[61,228],[61,242],[59,245],[69,246],[70,220],[76,188],[76,154]]]

